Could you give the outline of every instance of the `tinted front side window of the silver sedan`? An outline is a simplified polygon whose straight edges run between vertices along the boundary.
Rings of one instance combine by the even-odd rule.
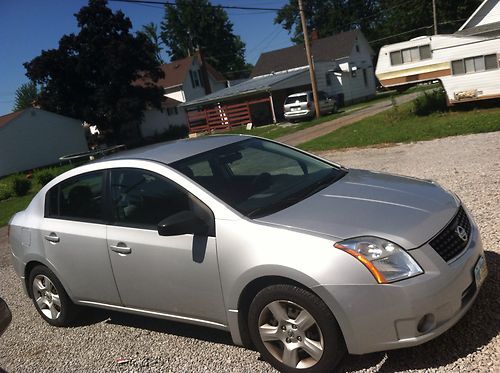
[[[190,210],[188,193],[139,169],[111,171],[112,219],[118,225],[156,229],[166,217]]]

